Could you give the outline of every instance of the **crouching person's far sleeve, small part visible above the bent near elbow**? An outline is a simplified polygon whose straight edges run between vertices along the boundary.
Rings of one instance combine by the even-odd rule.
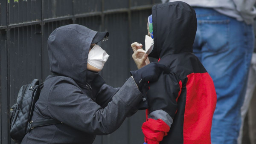
[[[113,88],[107,84],[103,84],[96,95],[96,103],[103,109],[107,107],[108,103],[112,100],[112,97],[118,92],[119,88]]]

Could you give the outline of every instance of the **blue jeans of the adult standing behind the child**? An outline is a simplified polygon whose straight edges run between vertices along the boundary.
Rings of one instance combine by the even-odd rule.
[[[193,52],[211,75],[217,94],[212,144],[236,144],[253,53],[253,27],[214,9],[194,9],[198,29]]]

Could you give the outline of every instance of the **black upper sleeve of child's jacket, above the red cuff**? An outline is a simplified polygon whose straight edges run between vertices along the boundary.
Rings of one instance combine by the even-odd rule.
[[[176,99],[181,90],[179,78],[173,72],[170,74],[162,74],[156,82],[152,84],[149,83],[149,86],[150,88],[147,92],[149,118],[150,116],[154,117],[154,119],[157,118],[157,116],[152,114],[154,111],[162,110],[161,112],[166,112],[163,115],[168,114],[170,116],[166,118],[166,124],[172,124],[177,110]]]

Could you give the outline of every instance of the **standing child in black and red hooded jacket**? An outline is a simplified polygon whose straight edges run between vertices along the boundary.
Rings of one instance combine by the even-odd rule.
[[[184,2],[155,5],[152,25],[154,48],[149,56],[171,73],[149,83],[147,121],[142,126],[145,143],[210,144],[216,92],[212,78],[192,53],[195,11]]]

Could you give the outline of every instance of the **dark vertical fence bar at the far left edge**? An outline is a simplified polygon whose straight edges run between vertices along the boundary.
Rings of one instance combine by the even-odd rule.
[[[9,144],[9,85],[8,85],[8,25],[9,25],[9,8],[7,0],[0,2],[0,26],[7,26],[0,30],[0,143]],[[7,132],[6,132],[7,130]]]

